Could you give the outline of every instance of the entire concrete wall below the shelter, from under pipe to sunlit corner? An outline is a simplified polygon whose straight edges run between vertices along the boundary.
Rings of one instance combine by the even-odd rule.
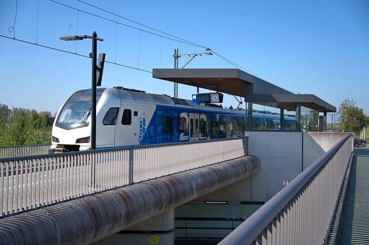
[[[261,161],[261,170],[217,191],[201,196],[189,204],[204,200],[266,201],[306,169],[347,133],[341,132],[273,132],[248,131],[248,152]]]

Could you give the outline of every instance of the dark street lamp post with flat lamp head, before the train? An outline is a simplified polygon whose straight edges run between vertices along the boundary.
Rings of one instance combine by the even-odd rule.
[[[92,52],[90,53],[91,57],[91,149],[96,149],[96,46],[97,40],[102,41],[103,39],[97,37],[95,31],[93,31],[92,35],[69,35],[69,36],[60,36],[59,39],[64,41],[75,41],[75,40],[83,40],[86,38],[92,39]]]

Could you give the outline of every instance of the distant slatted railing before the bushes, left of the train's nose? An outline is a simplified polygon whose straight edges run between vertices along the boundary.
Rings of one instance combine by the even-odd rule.
[[[51,144],[25,144],[0,146],[0,158],[47,154]]]

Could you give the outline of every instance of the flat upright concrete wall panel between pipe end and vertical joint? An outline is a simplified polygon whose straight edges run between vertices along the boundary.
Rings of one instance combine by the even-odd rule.
[[[248,152],[261,161],[261,170],[252,175],[251,200],[268,200],[302,169],[300,132],[245,132]]]

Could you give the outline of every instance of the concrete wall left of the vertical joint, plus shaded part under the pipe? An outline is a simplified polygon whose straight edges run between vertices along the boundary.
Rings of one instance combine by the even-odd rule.
[[[261,169],[256,174],[201,196],[189,204],[204,200],[266,201],[302,171],[301,132],[248,131],[248,153],[257,156]]]

